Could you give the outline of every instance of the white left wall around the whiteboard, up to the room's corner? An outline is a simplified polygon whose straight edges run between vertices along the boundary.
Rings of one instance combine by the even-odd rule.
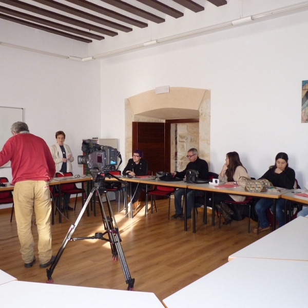
[[[63,130],[75,157],[73,173],[82,174],[82,139],[101,131],[100,65],[0,45],[0,105],[25,108],[30,132],[48,145]],[[12,179],[10,168],[0,168],[0,175]]]

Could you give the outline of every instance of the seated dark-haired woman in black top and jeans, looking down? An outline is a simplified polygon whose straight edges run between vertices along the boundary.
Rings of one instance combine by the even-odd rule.
[[[295,184],[295,171],[288,166],[288,157],[286,153],[280,152],[276,155],[275,165],[269,167],[260,179],[266,179],[274,186],[292,189]],[[256,212],[259,217],[259,232],[269,229],[269,223],[266,218],[266,210],[273,204],[272,199],[262,198],[256,204]],[[276,218],[279,227],[284,225],[284,199],[276,201]],[[272,208],[273,210],[273,208]],[[258,232],[258,227],[254,228]]]

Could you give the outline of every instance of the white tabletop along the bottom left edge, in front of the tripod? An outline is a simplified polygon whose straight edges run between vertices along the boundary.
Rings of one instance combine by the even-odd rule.
[[[12,281],[0,285],[1,307],[6,308],[163,308],[153,293]]]

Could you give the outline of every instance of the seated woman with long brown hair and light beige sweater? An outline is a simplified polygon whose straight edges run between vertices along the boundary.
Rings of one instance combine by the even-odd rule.
[[[237,152],[228,152],[226,155],[226,162],[222,166],[220,175],[218,177],[222,184],[239,184],[240,177],[250,177],[247,174],[246,168],[242,165],[240,157]],[[215,194],[214,202],[218,208],[222,201],[244,201],[246,197],[239,195],[226,195],[226,194]],[[236,205],[239,206],[239,205]],[[241,220],[242,217],[235,216],[235,208],[229,207],[227,204],[222,203],[222,215],[224,217],[223,224],[229,224],[233,219]],[[241,211],[239,211],[240,213]]]

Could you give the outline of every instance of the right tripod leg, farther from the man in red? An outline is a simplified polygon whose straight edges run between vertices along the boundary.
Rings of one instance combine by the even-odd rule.
[[[118,229],[117,223],[115,222],[113,211],[112,211],[111,204],[110,204],[107,194],[106,194],[106,200],[107,200],[107,205],[108,205],[108,211],[109,211],[111,218],[109,216],[106,217],[103,201],[102,201],[101,196],[99,195],[100,206],[102,209],[103,217],[105,217],[105,219],[103,220],[104,220],[105,228],[107,230],[109,240],[111,243],[111,249],[115,249],[114,253],[117,253],[117,255],[120,258],[122,270],[124,273],[124,277],[126,279],[126,284],[128,284],[127,290],[133,291],[134,278],[131,278],[130,273],[129,273],[129,269],[128,269],[125,256],[124,256],[124,252],[122,249],[122,245],[121,245],[119,229]],[[115,224],[115,228],[113,227],[112,221]],[[113,252],[112,252],[112,260],[113,260]]]

